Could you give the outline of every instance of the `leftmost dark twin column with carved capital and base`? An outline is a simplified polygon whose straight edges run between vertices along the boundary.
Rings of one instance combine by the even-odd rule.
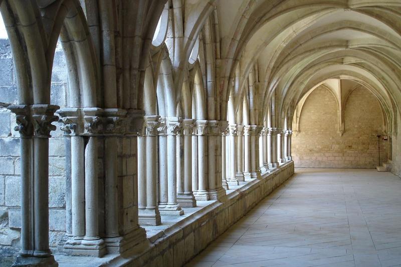
[[[11,105],[20,132],[21,250],[14,266],[57,266],[49,249],[49,138],[55,105]]]

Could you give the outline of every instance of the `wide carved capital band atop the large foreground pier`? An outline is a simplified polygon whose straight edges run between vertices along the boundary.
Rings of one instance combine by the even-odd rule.
[[[57,113],[61,129],[71,136],[140,135],[144,124],[142,110],[63,108]]]

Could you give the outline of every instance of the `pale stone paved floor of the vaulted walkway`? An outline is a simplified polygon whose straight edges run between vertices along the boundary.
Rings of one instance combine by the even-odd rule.
[[[401,266],[401,179],[374,169],[296,174],[187,266]]]

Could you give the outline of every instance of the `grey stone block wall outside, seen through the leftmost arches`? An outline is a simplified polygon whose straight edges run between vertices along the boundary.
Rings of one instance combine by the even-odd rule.
[[[51,102],[64,107],[67,99],[67,67],[64,52],[58,44],[54,58]],[[17,83],[11,47],[0,39],[0,102],[17,103]],[[14,131],[15,115],[0,107],[0,250],[2,255],[16,252],[21,230],[21,172],[19,133]],[[49,140],[49,237],[55,247],[64,239],[65,213],[65,146],[60,127]]]

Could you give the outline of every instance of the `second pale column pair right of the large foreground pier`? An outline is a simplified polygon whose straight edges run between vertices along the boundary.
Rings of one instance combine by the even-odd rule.
[[[159,172],[159,211],[164,215],[182,215],[184,211],[177,202],[177,132],[180,130],[181,119],[167,117],[159,129],[159,170],[165,168],[167,172]],[[167,167],[167,168],[166,168]],[[165,170],[164,169],[164,170]]]

